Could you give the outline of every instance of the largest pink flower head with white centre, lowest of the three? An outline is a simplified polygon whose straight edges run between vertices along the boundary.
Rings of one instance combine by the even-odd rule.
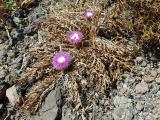
[[[52,64],[57,70],[65,70],[71,64],[72,57],[68,52],[58,52],[52,58]]]

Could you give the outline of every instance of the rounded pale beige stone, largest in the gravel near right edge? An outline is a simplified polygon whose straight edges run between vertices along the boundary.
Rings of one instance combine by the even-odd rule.
[[[146,82],[141,82],[136,85],[135,90],[136,93],[140,94],[146,93],[147,91],[149,91],[148,84]]]

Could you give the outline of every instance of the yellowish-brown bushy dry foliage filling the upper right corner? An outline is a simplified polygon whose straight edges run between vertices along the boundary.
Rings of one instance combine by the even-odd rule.
[[[99,36],[107,39],[134,38],[140,52],[160,60],[159,0],[121,0],[106,9]],[[153,47],[154,46],[154,47]]]

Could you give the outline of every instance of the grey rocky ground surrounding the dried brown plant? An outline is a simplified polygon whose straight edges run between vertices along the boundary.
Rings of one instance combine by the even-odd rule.
[[[8,28],[0,25],[0,95],[12,85],[12,79],[20,76],[32,62],[29,51],[33,44],[41,40],[35,23],[47,17],[49,7],[53,4],[43,1],[34,7],[18,9],[11,16],[6,16]],[[7,30],[10,36],[6,34]],[[134,69],[139,77],[126,72],[109,93],[102,96],[97,94],[89,120],[160,120],[160,63],[154,67],[143,55],[134,61]],[[57,107],[57,89],[48,94],[40,110],[32,116],[15,111],[6,99],[0,99],[0,119],[76,120],[76,110],[65,105],[62,114],[59,114],[61,110]]]

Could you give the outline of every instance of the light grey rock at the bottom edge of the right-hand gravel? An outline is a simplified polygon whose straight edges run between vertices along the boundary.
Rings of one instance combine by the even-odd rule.
[[[132,120],[132,108],[116,107],[112,113],[114,120]]]

